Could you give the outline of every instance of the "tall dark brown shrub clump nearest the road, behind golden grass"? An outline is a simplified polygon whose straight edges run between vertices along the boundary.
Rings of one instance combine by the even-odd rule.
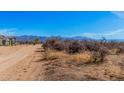
[[[50,38],[43,43],[44,49],[57,51],[65,50],[67,53],[79,53],[84,50],[83,43],[77,40],[62,40],[59,38]]]

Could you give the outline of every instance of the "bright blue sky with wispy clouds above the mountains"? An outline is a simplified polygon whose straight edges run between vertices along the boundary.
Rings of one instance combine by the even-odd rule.
[[[124,39],[124,12],[0,12],[0,34]]]

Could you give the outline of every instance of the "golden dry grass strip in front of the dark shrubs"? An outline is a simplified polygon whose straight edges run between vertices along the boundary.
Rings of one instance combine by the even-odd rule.
[[[75,64],[84,64],[93,62],[94,58],[90,52],[67,54],[63,51],[48,50],[44,55],[46,60],[61,59],[64,62],[74,62]]]

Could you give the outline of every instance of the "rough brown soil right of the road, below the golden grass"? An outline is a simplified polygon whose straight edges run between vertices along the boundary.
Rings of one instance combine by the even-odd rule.
[[[104,62],[99,63],[79,65],[54,59],[42,64],[47,81],[124,81],[124,54],[107,55]]]

